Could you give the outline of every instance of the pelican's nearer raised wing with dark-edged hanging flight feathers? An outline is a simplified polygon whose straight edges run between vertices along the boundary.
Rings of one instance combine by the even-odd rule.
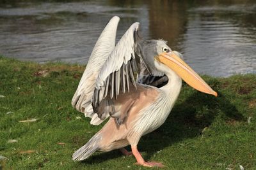
[[[139,26],[140,24],[136,22],[125,32],[109,55],[96,80],[92,106],[93,111],[98,113],[99,105],[104,104],[104,113],[98,113],[102,120],[108,117],[109,113],[115,112],[112,107],[112,99],[118,97],[121,89],[123,93],[129,93],[130,85],[136,87],[134,71],[137,70],[136,57],[138,56],[135,55]]]

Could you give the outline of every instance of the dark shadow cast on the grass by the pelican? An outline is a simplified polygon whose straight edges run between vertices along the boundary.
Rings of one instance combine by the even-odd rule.
[[[146,152],[144,159],[149,160],[154,153],[163,150],[163,148],[173,143],[200,136],[202,130],[211,125],[217,115],[221,114],[220,116],[226,121],[245,120],[236,106],[230,103],[229,99],[220,93],[218,95],[218,97],[213,97],[200,92],[194,92],[191,96],[186,97],[185,101],[178,101],[166,122],[156,131],[140,139],[138,148],[141,152]],[[84,160],[83,163],[100,163],[109,159],[115,159],[120,157],[120,155],[122,154],[118,150],[98,153]]]

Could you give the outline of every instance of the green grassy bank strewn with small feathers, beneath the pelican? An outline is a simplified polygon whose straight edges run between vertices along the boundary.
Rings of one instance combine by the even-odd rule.
[[[84,66],[0,57],[0,68],[4,169],[147,169],[116,150],[72,161],[72,153],[102,127],[90,125],[70,104]],[[163,162],[165,169],[256,169],[256,75],[203,77],[219,96],[184,85],[166,122],[141,138],[143,157]],[[38,120],[19,122],[31,118]],[[22,153],[28,150],[35,152]]]

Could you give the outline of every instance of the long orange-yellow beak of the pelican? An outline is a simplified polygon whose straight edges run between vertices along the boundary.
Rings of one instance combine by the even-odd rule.
[[[180,78],[194,89],[207,94],[212,94],[216,97],[218,96],[217,92],[212,90],[211,87],[209,87],[209,85],[174,52],[163,52],[158,55],[156,59],[170,67],[170,69],[175,71]]]

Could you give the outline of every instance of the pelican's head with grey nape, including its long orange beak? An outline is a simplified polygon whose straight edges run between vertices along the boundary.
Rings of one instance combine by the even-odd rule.
[[[218,94],[188,66],[179,53],[173,52],[163,40],[149,40],[140,43],[140,54],[148,71],[154,76],[174,72],[194,89],[217,96]]]

